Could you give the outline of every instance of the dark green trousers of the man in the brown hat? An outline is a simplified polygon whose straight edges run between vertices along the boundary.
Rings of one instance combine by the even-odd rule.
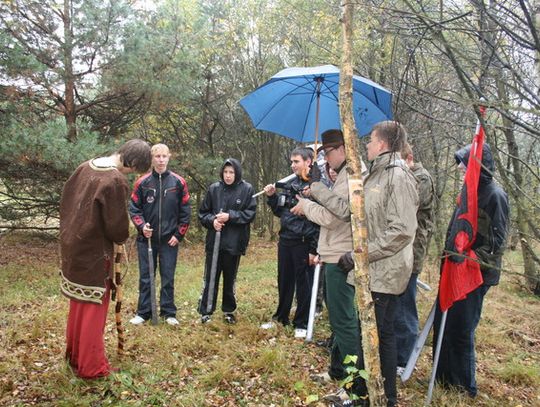
[[[328,374],[334,379],[341,380],[348,376],[345,370],[347,366],[344,363],[347,355],[358,356],[356,367],[364,368],[360,321],[354,299],[355,290],[352,285],[347,284],[347,274],[337,264],[327,263],[325,279],[326,306],[334,335]],[[355,378],[350,391],[357,396],[365,396],[367,387],[364,379]]]

